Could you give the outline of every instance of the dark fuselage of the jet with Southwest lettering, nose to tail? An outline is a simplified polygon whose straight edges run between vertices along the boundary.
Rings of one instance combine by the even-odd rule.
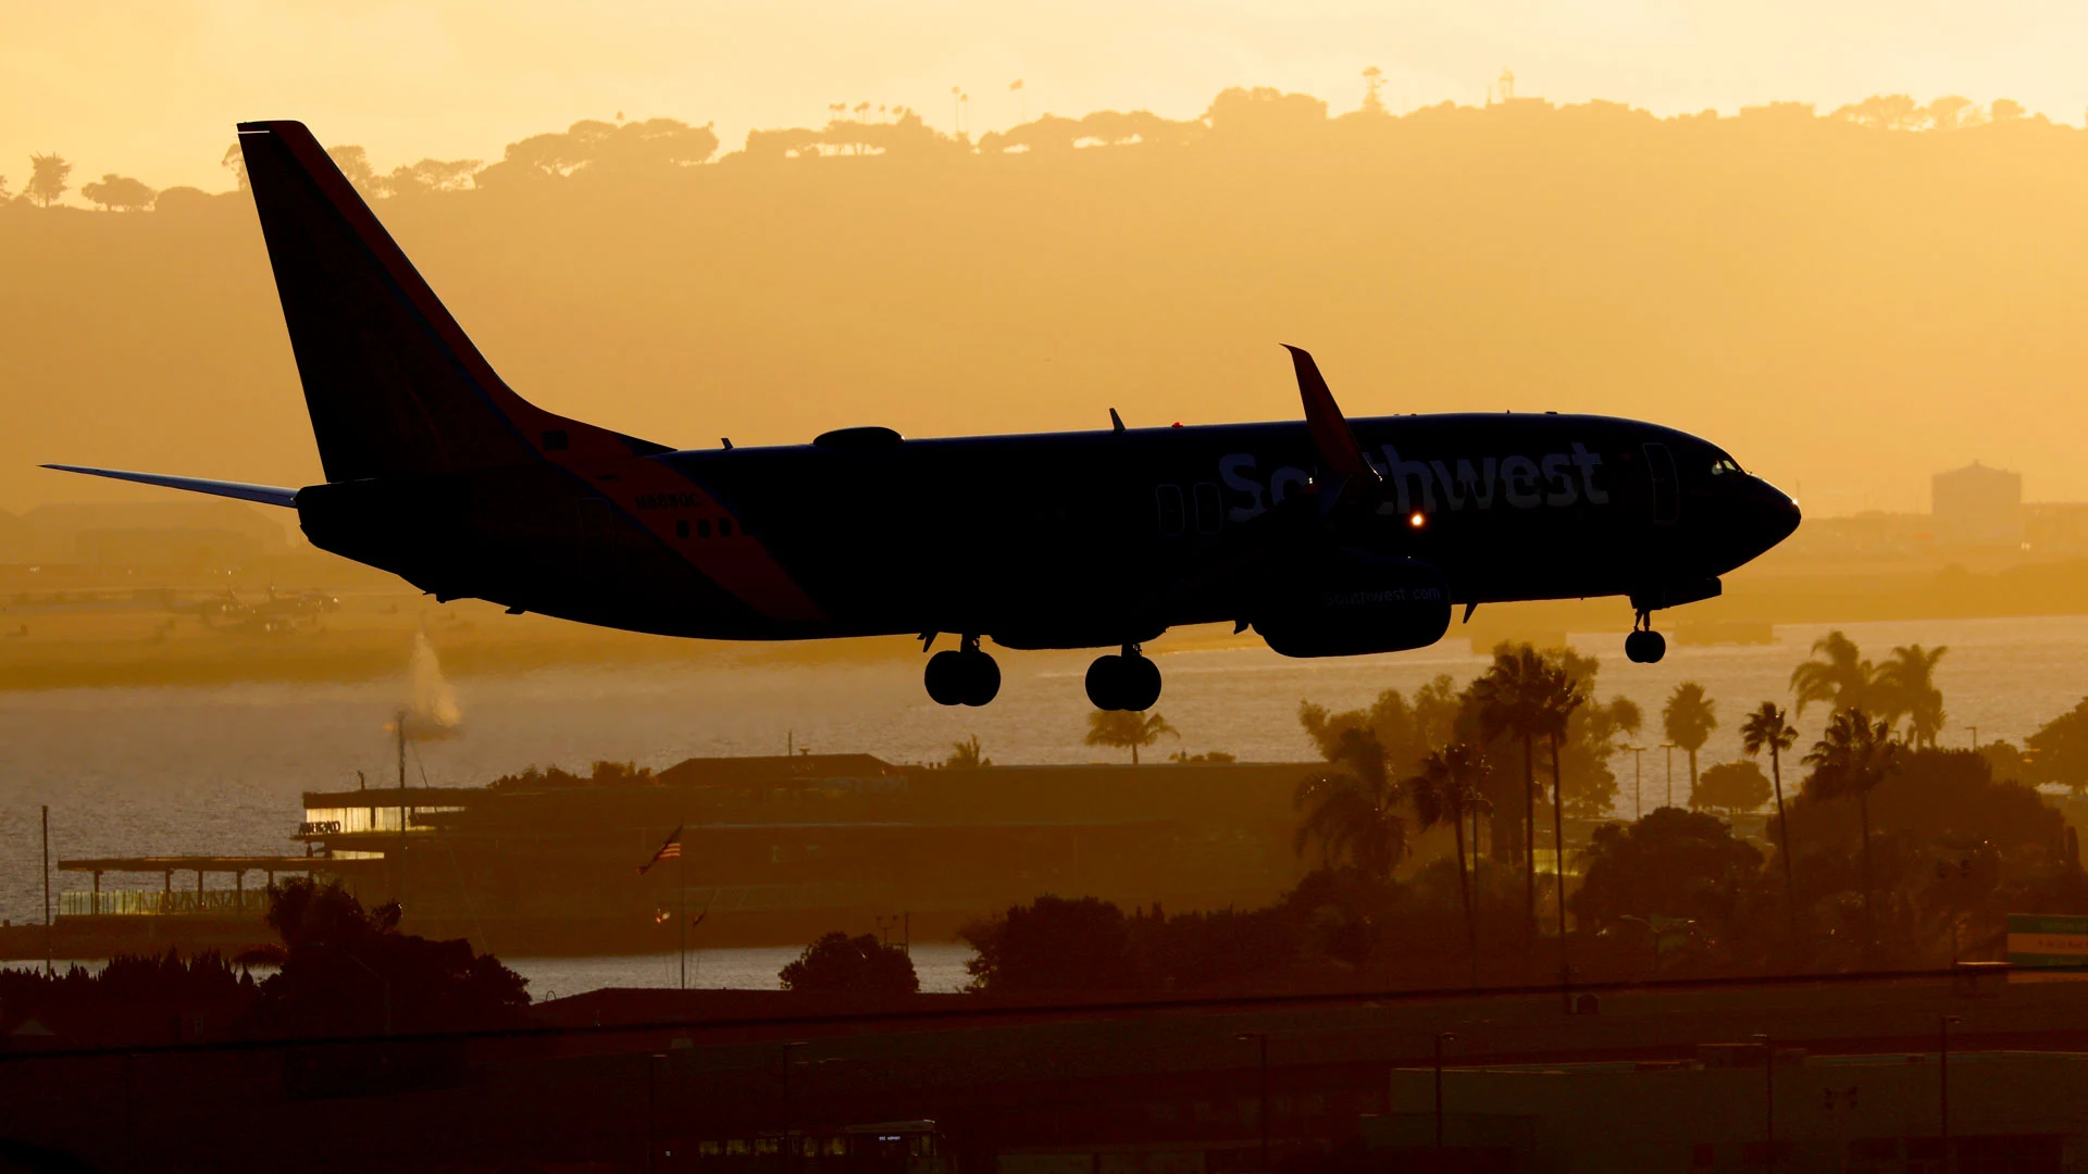
[[[1357,545],[1432,564],[1462,604],[1700,583],[1796,522],[1723,451],[1654,424],[1451,414],[1353,428],[1391,487]],[[1238,535],[1307,491],[1315,464],[1297,422],[933,441],[864,428],[416,478],[397,503],[386,487],[322,485],[299,510],[315,545],[438,595],[593,625],[1094,648],[1242,618]]]

